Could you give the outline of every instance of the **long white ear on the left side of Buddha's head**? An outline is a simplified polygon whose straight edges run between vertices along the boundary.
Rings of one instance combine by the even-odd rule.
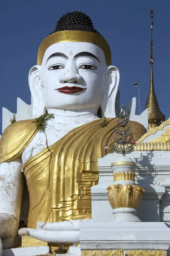
[[[35,118],[45,113],[46,109],[42,101],[41,67],[35,65],[28,75],[31,91],[32,117]]]

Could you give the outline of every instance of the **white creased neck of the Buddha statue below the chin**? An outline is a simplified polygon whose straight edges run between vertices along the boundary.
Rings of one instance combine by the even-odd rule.
[[[54,114],[53,122],[60,124],[83,124],[98,119],[97,114],[87,111],[67,111],[59,109],[48,109],[48,113]],[[79,126],[79,125],[77,125]]]

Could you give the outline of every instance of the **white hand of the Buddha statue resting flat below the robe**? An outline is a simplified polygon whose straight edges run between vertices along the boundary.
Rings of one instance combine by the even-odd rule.
[[[37,229],[21,228],[19,236],[31,236],[35,239],[48,243],[74,244],[80,241],[80,227],[83,222],[91,219],[62,221],[62,222],[41,222],[37,221]]]

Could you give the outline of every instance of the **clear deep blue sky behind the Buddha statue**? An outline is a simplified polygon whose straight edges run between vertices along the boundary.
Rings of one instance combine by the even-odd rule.
[[[16,111],[17,97],[31,103],[28,72],[36,64],[42,40],[66,12],[89,15],[108,41],[112,64],[119,68],[121,105],[126,105],[140,83],[144,110],[150,82],[150,9],[153,25],[154,85],[161,111],[170,116],[170,1],[169,0],[1,0],[0,4],[0,109]],[[137,112],[139,106],[137,105]],[[1,133],[2,111],[0,111]]]

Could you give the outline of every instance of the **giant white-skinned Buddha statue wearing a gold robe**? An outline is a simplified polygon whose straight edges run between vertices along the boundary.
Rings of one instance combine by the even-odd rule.
[[[9,184],[8,192],[0,192],[1,226],[12,223],[11,232],[0,237],[16,236],[23,170],[29,214],[28,228],[21,229],[20,235],[48,241],[34,232],[42,223],[49,230],[51,223],[57,223],[58,230],[71,230],[70,221],[78,227],[79,220],[91,219],[91,186],[98,183],[98,158],[112,152],[104,147],[114,141],[119,70],[111,65],[110,47],[91,19],[70,12],[40,44],[37,65],[28,80],[33,119],[9,125],[0,140],[0,175]],[[45,113],[54,119],[40,132],[34,118]],[[101,128],[104,116],[108,123]],[[131,127],[134,140],[146,132],[138,122],[131,121]],[[3,221],[6,216],[9,220]],[[68,241],[58,236],[57,242]]]

